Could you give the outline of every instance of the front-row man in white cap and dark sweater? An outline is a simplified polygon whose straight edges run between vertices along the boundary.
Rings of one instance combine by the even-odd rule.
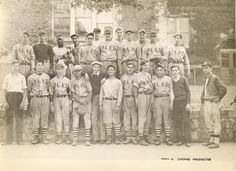
[[[105,126],[103,123],[103,113],[99,111],[99,95],[101,89],[101,81],[105,78],[105,74],[101,73],[102,63],[95,61],[92,64],[93,73],[89,75],[89,81],[92,86],[92,139],[93,143],[105,142]]]

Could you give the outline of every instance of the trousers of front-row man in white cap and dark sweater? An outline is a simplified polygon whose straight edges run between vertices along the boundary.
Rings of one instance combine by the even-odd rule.
[[[93,141],[105,140],[105,126],[103,123],[103,113],[99,111],[99,95],[92,97],[92,137]]]

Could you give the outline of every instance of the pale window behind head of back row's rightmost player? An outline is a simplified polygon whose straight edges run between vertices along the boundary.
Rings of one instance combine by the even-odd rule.
[[[188,18],[167,18],[167,39],[173,42],[173,35],[183,35],[184,46],[189,47],[190,26]]]

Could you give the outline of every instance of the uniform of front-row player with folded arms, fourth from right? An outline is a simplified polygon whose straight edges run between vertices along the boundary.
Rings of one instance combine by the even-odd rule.
[[[140,71],[136,75],[134,87],[138,90],[138,132],[139,136],[147,136],[151,123],[152,80],[147,72]]]

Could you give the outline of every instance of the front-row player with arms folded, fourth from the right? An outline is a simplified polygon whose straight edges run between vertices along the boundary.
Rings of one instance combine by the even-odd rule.
[[[145,146],[148,145],[147,136],[151,123],[152,79],[149,69],[149,62],[142,61],[141,71],[137,73],[133,84],[135,101],[138,108],[139,143]]]

